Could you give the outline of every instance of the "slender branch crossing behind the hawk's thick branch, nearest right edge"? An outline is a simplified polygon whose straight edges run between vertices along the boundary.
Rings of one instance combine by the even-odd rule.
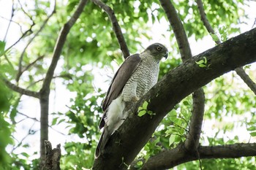
[[[214,29],[211,27],[211,24],[208,22],[208,19],[206,17],[206,12],[203,9],[203,2],[201,0],[197,0],[197,7],[200,12],[201,20],[203,21],[203,25],[206,27],[208,33],[210,34],[215,34]],[[217,41],[215,41],[217,45],[221,44],[221,41],[219,38]],[[242,68],[237,68],[235,69],[236,73],[241,77],[242,80],[248,85],[248,87],[255,93],[256,95],[256,84],[255,82],[250,79],[250,77],[244,72],[244,69]]]

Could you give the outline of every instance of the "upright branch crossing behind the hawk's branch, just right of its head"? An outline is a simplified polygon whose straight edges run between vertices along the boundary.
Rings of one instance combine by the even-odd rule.
[[[181,51],[181,59],[183,62],[192,58],[192,53],[189,47],[189,41],[187,39],[186,31],[181,23],[180,18],[176,12],[175,7],[170,0],[159,0],[162,7],[165,9],[165,13],[173,28],[173,32],[176,36],[178,42],[178,47]],[[193,93],[193,110],[189,125],[189,134],[187,134],[187,140],[185,142],[185,147],[187,150],[196,150],[199,144],[201,125],[203,123],[203,113],[204,113],[204,101],[205,96],[203,93],[203,88],[195,90]]]

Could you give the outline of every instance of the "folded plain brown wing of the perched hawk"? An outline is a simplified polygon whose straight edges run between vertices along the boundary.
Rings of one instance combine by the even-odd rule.
[[[108,109],[110,103],[115,100],[124,88],[124,85],[129,80],[129,77],[132,76],[135,69],[137,69],[139,63],[141,61],[140,54],[130,55],[124,63],[121,64],[120,68],[116,72],[113,80],[108,88],[108,93],[106,95],[105,100],[102,103],[102,109],[104,111],[104,115],[102,120],[100,120],[99,128],[102,128],[105,125],[104,117],[105,112]]]

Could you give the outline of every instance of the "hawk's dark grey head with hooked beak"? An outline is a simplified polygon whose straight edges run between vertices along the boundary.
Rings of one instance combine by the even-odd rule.
[[[167,48],[160,43],[149,45],[144,52],[153,55],[157,61],[160,61],[163,57],[165,59],[168,57]]]

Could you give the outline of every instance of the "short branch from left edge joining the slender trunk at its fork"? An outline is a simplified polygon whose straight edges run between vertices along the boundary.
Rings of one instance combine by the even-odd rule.
[[[9,80],[5,79],[4,77],[1,77],[1,80],[4,81],[4,83],[7,85],[8,88],[20,93],[20,94],[24,94],[26,96],[31,96],[34,98],[39,98],[39,93],[35,92],[35,91],[31,91],[31,90],[27,90],[25,88],[20,88],[18,87],[18,85],[12,84],[12,82],[10,82]]]

